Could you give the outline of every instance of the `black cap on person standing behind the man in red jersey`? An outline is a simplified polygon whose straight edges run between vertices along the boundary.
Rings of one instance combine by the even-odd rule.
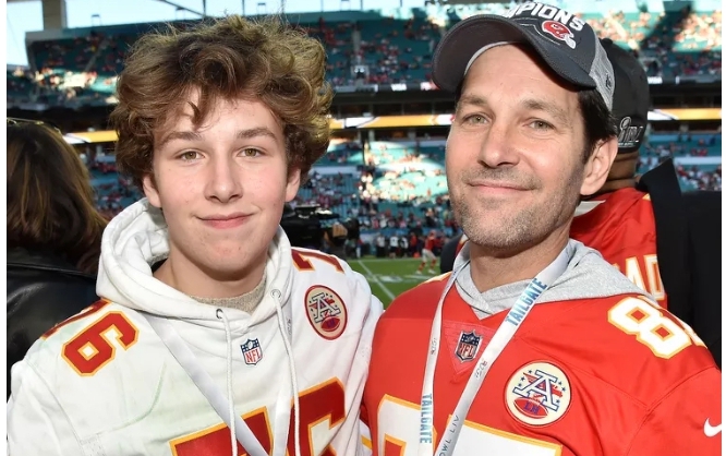
[[[638,151],[645,135],[651,91],[643,65],[609,38],[601,39],[615,73],[613,116],[618,128],[618,154]]]

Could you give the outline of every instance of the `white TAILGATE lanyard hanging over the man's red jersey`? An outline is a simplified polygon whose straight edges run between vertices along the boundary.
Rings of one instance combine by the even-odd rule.
[[[535,301],[549,287],[567,268],[569,259],[571,256],[571,249],[569,244],[562,249],[560,254],[549,263],[540,274],[537,274],[527,286],[522,295],[517,298],[515,305],[509,310],[504,322],[492,337],[492,340],[484,349],[474,371],[472,372],[467,386],[459,398],[459,403],[453,409],[451,420],[449,421],[446,431],[441,434],[436,453],[434,453],[434,371],[436,370],[436,360],[438,359],[438,351],[441,337],[441,309],[444,307],[444,299],[449,290],[456,283],[459,273],[469,264],[464,262],[457,271],[455,271],[444,288],[441,298],[438,300],[436,313],[434,315],[434,323],[431,328],[431,339],[428,356],[426,359],[426,369],[424,372],[423,392],[421,393],[421,422],[419,434],[419,456],[451,456],[453,447],[457,444],[459,432],[467,418],[467,413],[471,408],[471,404],[479,393],[479,389],[484,382],[484,377],[492,368],[494,361],[499,357],[504,348],[509,344],[512,336],[522,324],[530,310],[535,304]]]

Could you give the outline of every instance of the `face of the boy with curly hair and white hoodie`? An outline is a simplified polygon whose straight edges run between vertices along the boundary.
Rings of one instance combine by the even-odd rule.
[[[164,211],[176,279],[198,284],[185,291],[234,296],[256,285],[243,284],[247,277],[259,280],[300,170],[288,172],[282,127],[263,103],[221,101],[198,129],[192,115],[185,103],[155,133],[154,176],[144,191]]]

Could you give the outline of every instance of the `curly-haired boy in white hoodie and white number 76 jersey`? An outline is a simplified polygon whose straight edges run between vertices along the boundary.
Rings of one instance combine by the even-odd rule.
[[[13,369],[11,454],[355,454],[382,304],[279,227],[328,145],[324,62],[274,19],[134,46],[111,120],[147,199],[104,233],[104,300]]]

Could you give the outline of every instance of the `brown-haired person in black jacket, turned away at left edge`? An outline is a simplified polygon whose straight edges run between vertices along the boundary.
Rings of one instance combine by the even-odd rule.
[[[8,397],[11,368],[57,323],[98,300],[106,219],[59,131],[8,119]]]

